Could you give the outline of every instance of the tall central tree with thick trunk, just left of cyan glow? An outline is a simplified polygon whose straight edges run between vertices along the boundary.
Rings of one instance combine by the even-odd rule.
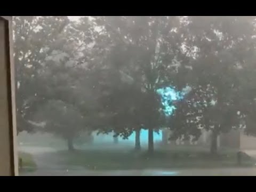
[[[186,58],[186,52],[181,51],[185,38],[177,38],[182,36],[185,23],[180,17],[94,17],[94,21],[101,34],[109,37],[113,55],[106,63],[112,66],[109,71],[115,70],[119,76],[125,73],[140,83],[139,90],[145,95],[140,119],[149,130],[148,149],[152,153],[153,132],[163,124],[156,90],[173,82],[170,74],[175,70],[177,52],[178,57]]]

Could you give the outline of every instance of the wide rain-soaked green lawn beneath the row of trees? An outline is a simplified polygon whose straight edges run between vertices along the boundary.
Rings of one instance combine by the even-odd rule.
[[[121,149],[76,150],[73,153],[59,151],[62,160],[68,165],[82,166],[93,170],[130,169],[171,169],[171,168],[211,168],[254,166],[255,161],[243,155],[242,165],[237,163],[234,150],[221,150],[212,156],[206,150],[156,149],[149,156],[146,151],[135,152]]]

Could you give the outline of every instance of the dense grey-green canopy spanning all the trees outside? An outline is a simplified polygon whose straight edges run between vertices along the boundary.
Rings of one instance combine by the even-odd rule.
[[[127,139],[146,129],[152,153],[154,131],[197,140],[204,129],[216,153],[220,133],[256,133],[254,20],[14,17],[18,130],[32,131],[39,110],[38,121],[52,122],[45,130],[65,139],[88,129]]]

